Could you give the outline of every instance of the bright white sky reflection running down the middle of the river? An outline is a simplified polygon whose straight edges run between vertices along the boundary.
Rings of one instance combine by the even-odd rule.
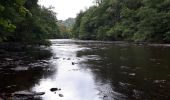
[[[52,43],[54,57],[51,61],[57,72],[52,77],[40,81],[33,90],[45,91],[44,100],[100,100],[91,70],[83,69],[79,65],[81,58],[77,57],[78,51],[88,48],[76,45],[71,40]],[[54,87],[61,88],[61,91],[51,92],[50,88]],[[60,97],[59,94],[64,97]]]

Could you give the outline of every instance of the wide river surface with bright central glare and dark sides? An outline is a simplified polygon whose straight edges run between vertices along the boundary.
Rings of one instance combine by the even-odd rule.
[[[9,69],[1,58],[1,92],[45,92],[42,100],[170,100],[169,45],[50,41],[49,57],[43,52]]]

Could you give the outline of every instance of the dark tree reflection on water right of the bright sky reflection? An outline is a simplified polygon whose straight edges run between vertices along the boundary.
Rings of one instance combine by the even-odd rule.
[[[93,49],[80,51],[77,56],[98,55],[101,58],[82,62],[92,70],[96,83],[110,84],[127,99],[166,100],[170,97],[170,68],[165,68],[170,66],[167,61],[169,49],[138,45],[106,45],[105,49],[101,49],[104,45],[87,47]],[[155,84],[155,80],[162,80],[162,83]]]

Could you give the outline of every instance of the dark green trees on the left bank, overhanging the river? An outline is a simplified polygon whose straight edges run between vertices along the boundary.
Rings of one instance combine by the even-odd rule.
[[[38,0],[0,1],[0,42],[48,44],[48,38],[60,38],[53,7],[45,8]]]

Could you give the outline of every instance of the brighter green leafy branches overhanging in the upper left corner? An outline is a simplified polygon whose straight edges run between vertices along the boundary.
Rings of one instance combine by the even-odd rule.
[[[24,7],[25,0],[0,1],[0,42],[7,40],[15,31],[15,22],[22,20],[29,11]]]

